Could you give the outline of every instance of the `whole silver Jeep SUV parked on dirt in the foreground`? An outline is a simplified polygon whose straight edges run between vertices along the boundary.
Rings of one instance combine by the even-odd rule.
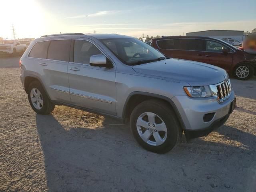
[[[165,153],[180,140],[209,134],[236,98],[225,70],[167,58],[117,34],[58,34],[34,40],[20,59],[33,110],[66,105],[130,121],[137,142]]]

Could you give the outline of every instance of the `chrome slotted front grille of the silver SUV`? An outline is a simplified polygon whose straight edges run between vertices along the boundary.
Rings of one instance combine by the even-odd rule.
[[[230,97],[231,94],[231,84],[230,80],[226,80],[217,85],[217,95],[218,95],[218,102],[224,102]]]

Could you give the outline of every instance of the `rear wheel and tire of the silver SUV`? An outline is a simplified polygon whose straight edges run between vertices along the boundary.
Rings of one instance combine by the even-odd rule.
[[[37,81],[30,83],[28,86],[28,101],[32,109],[42,115],[50,114],[55,107],[40,82]]]

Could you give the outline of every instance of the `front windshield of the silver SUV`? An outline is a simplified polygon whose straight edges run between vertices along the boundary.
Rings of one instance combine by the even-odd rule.
[[[136,38],[113,38],[101,40],[124,64],[142,64],[164,55]]]

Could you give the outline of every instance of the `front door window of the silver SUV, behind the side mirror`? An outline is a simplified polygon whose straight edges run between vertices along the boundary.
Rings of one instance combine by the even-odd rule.
[[[75,40],[74,43],[74,62],[90,64],[90,56],[99,55],[102,52],[91,42]]]

